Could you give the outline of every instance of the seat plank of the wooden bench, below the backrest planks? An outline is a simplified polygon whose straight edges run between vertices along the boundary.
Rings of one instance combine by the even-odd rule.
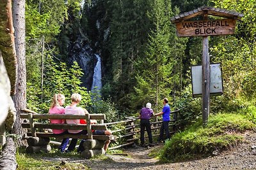
[[[31,133],[28,133],[28,136],[31,136]],[[88,135],[86,134],[52,134],[52,133],[44,133],[44,132],[36,132],[36,136],[42,138],[74,138],[74,139],[89,139]],[[106,136],[106,135],[93,135],[93,139],[98,140],[116,140],[116,136]]]

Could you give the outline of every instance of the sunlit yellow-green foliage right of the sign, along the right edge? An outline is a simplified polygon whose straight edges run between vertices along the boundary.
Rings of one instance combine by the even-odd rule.
[[[220,38],[211,48],[214,61],[221,61],[226,96],[233,100],[239,96],[255,97],[256,1],[214,1],[216,6],[244,14],[238,22],[236,36]],[[226,99],[227,99],[226,98]]]

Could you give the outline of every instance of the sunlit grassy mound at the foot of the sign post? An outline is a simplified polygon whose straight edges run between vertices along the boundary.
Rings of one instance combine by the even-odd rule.
[[[183,132],[175,134],[161,151],[161,161],[195,159],[236,145],[243,139],[239,133],[252,130],[255,124],[244,115],[222,113],[209,118],[207,125],[196,122]],[[236,133],[237,132],[237,133]]]

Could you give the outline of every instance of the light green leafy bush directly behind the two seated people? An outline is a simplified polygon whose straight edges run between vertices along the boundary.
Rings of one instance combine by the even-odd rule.
[[[86,108],[92,104],[90,94],[85,87],[81,87],[81,77],[83,76],[82,69],[77,62],[68,68],[67,64],[60,62],[57,64],[52,59],[51,55],[47,55],[45,60],[44,70],[44,91],[40,92],[40,84],[36,81],[28,82],[28,108],[35,111],[47,113],[51,105],[52,96],[56,93],[61,93],[67,97],[67,103],[71,101],[68,97],[73,93],[79,93],[82,96],[80,106]]]

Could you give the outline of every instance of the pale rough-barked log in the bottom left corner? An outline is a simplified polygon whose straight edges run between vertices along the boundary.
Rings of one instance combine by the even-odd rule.
[[[2,170],[14,170],[17,169],[16,162],[16,147],[12,138],[6,139],[6,144],[3,147],[0,159],[0,169]]]

